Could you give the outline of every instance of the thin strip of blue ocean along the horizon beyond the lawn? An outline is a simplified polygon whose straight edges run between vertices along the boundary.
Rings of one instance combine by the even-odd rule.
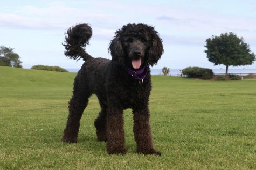
[[[79,69],[66,69],[69,72],[78,72]],[[163,75],[162,69],[150,69],[151,75]],[[180,74],[180,70],[182,69],[170,69],[171,76],[178,76]],[[225,74],[225,69],[212,69],[215,74]],[[248,73],[256,73],[256,69],[229,69],[229,73],[231,74],[241,74],[246,75]]]

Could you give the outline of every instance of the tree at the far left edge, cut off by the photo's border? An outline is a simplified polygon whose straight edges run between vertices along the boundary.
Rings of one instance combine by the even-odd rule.
[[[0,46],[0,65],[22,68],[19,55],[13,52],[13,48]]]

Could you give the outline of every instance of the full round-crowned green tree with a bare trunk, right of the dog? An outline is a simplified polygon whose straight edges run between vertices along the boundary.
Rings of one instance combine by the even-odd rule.
[[[226,78],[229,66],[251,65],[255,61],[255,55],[250,50],[250,46],[244,42],[243,38],[232,32],[220,34],[206,40],[207,48],[204,52],[207,58],[214,65],[224,64],[226,66]]]

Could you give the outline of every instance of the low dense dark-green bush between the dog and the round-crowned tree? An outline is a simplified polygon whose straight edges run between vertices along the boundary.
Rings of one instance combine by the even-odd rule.
[[[211,69],[199,68],[199,67],[188,67],[182,70],[183,75],[188,78],[201,78],[211,79],[213,72]]]

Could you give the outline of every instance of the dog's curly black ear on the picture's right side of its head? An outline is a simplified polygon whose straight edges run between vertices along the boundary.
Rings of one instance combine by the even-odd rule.
[[[161,55],[163,54],[162,39],[159,38],[158,33],[153,29],[151,31],[152,41],[148,51],[148,64],[153,66],[157,64]]]

